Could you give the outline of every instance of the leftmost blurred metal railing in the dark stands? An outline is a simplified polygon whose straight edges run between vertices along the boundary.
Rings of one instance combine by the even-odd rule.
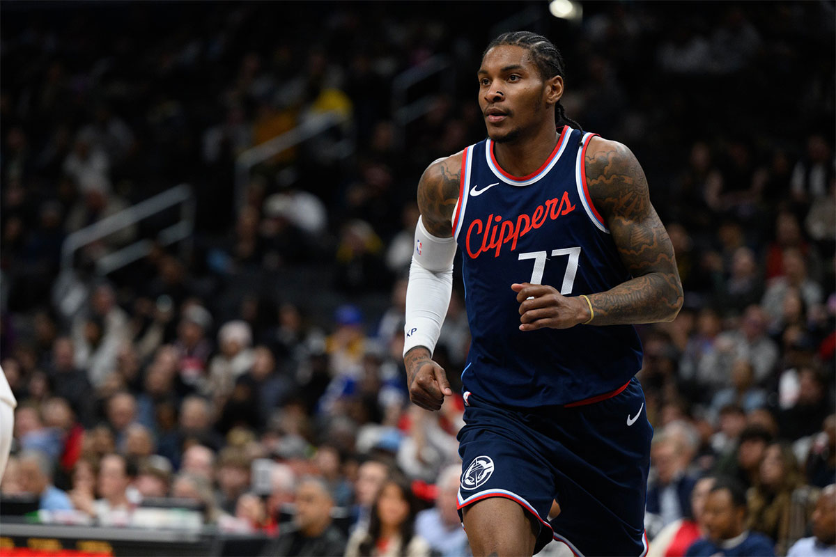
[[[189,240],[195,228],[195,198],[189,185],[181,184],[68,235],[61,246],[61,271],[73,268],[76,251],[176,205],[180,205],[180,220],[160,230],[155,241],[162,246],[185,241],[181,246],[181,256],[186,257],[191,249]],[[102,276],[108,275],[147,256],[155,241],[145,238],[99,257],[95,262],[96,271]]]

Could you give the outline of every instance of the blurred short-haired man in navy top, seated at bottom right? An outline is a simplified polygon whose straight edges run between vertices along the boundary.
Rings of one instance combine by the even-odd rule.
[[[686,557],[774,557],[771,539],[745,529],[746,492],[734,480],[716,480],[708,492],[702,516],[706,535],[691,544]]]

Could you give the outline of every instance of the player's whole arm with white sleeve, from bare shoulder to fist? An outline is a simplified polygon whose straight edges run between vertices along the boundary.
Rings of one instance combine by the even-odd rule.
[[[418,183],[418,208],[421,210],[421,222],[426,232],[435,236],[436,239],[451,239],[453,235],[451,220],[459,196],[461,156],[460,153],[446,159],[436,160],[427,168]],[[436,242],[430,240],[431,238],[424,237],[425,250],[430,250],[433,247],[438,249],[440,247],[438,246],[439,243],[452,241]],[[435,246],[431,246],[431,244],[435,244]],[[446,246],[441,247],[444,248],[441,252],[447,251]],[[451,249],[455,251],[455,245],[452,245]],[[436,251],[437,253],[439,251]],[[427,256],[429,256],[429,252],[424,254],[424,257]],[[450,254],[450,257],[452,258],[452,254]],[[451,259],[448,261],[451,261]],[[413,257],[410,269],[410,285],[407,287],[406,295],[407,327],[417,327],[416,329],[412,328],[411,332],[416,330],[418,332],[407,339],[407,347],[410,346],[410,343],[415,344],[415,346],[405,353],[404,365],[407,386],[410,389],[410,400],[421,408],[438,410],[441,408],[441,403],[444,402],[444,397],[450,396],[452,391],[450,383],[447,382],[446,372],[436,362],[432,361],[431,347],[435,344],[438,328],[441,327],[438,315],[441,314],[441,320],[443,320],[447,305],[450,303],[449,289],[452,266],[446,271],[434,275],[432,271],[423,268],[421,265],[421,262]],[[433,266],[430,267],[433,268]],[[438,269],[433,269],[438,271]],[[442,278],[445,273],[446,279]],[[435,327],[438,328],[436,328],[435,333],[431,335],[423,333],[424,336],[421,337],[421,331],[428,331],[430,327],[422,328],[420,325],[410,324],[410,315],[426,315],[428,312],[434,316],[431,324],[435,323]],[[418,321],[415,318],[415,322]],[[419,344],[419,342],[428,346]]]

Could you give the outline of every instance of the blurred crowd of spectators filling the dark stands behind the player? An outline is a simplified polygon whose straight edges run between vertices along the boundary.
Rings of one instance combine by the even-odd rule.
[[[474,6],[4,4],[3,497],[120,525],[190,500],[273,554],[466,554],[461,397],[410,405],[400,357],[415,184],[482,139],[482,48],[534,6],[567,114],[644,166],[686,291],[674,322],[638,327],[651,547],[833,546],[832,4],[584,3],[580,24]],[[449,66],[404,119],[395,78],[436,55]],[[234,187],[240,154],[325,113],[347,123]],[[68,235],[179,183],[187,249],[150,219],[62,262]],[[436,348],[451,383],[468,345],[459,283]],[[743,518],[720,524],[719,504]]]

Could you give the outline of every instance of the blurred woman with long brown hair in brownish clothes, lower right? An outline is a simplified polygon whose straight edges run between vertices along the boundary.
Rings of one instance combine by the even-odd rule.
[[[777,554],[787,552],[794,518],[791,516],[793,493],[802,484],[803,476],[793,449],[783,443],[769,445],[763,453],[755,485],[748,493],[747,527],[775,540]],[[807,517],[801,517],[800,522],[807,522]]]

